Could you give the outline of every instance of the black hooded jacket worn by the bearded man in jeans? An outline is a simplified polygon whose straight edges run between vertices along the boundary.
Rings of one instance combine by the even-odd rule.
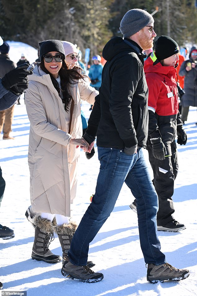
[[[145,147],[148,135],[148,87],[142,49],[130,39],[113,37],[103,49],[107,60],[87,134],[97,146]]]

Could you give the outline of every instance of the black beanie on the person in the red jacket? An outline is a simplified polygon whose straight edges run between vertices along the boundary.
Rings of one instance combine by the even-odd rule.
[[[180,52],[178,44],[169,36],[159,36],[155,41],[155,55],[159,61],[167,59],[178,52]]]

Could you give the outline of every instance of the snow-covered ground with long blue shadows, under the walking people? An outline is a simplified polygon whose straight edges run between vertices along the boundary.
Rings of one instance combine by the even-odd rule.
[[[83,108],[88,117],[89,105],[84,104]],[[158,233],[167,261],[175,267],[188,268],[190,276],[180,282],[157,284],[150,284],[146,280],[147,269],[140,249],[137,215],[129,208],[133,197],[126,185],[121,190],[111,216],[90,245],[89,260],[96,264],[93,270],[104,274],[101,282],[86,284],[66,279],[61,274],[61,262],[47,264],[31,259],[34,229],[25,217],[30,205],[27,163],[30,123],[23,98],[21,105],[15,106],[14,115],[12,136],[15,140],[0,141],[0,165],[6,180],[0,223],[15,231],[14,238],[0,240],[0,281],[4,285],[3,291],[27,291],[28,296],[197,295],[196,108],[190,107],[184,126],[187,144],[178,145],[179,173],[173,197],[176,210],[174,216],[179,222],[185,223],[186,229],[178,233]],[[146,150],[144,154],[147,158]],[[98,172],[97,148],[90,160],[81,151],[78,192],[73,210],[73,218],[77,223],[90,203],[89,197],[94,193]],[[151,169],[150,173],[152,175]],[[50,249],[61,255],[57,236],[51,242]]]

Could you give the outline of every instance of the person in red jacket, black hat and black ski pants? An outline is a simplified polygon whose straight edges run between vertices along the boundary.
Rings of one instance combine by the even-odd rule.
[[[158,194],[159,210],[157,229],[179,231],[185,225],[177,222],[172,214],[174,205],[174,180],[178,173],[177,143],[185,145],[186,132],[178,111],[176,67],[179,46],[172,38],[160,36],[155,42],[155,52],[144,63],[144,72],[149,88],[149,136],[147,150],[153,169],[153,185]],[[135,206],[135,201],[130,205]]]

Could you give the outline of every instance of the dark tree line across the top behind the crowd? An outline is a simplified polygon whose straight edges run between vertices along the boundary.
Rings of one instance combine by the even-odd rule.
[[[122,16],[132,8],[153,15],[157,35],[180,46],[197,42],[197,8],[191,0],[0,0],[0,35],[38,48],[47,39],[68,40],[82,52],[101,53],[112,36],[121,36]]]

